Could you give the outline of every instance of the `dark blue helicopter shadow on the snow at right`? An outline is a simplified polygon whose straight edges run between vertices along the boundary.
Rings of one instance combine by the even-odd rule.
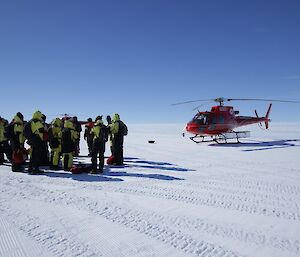
[[[272,150],[278,148],[287,148],[287,147],[299,147],[300,139],[282,139],[274,141],[255,141],[255,142],[241,142],[236,143],[227,143],[227,144],[210,144],[209,146],[213,147],[251,147],[250,149],[243,149],[243,152],[252,152],[252,151],[262,151],[262,150]]]

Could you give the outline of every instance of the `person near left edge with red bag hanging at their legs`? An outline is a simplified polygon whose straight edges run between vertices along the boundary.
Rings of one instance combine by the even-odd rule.
[[[18,112],[12,122],[8,125],[12,127],[12,135],[10,138],[10,145],[12,149],[12,159],[11,159],[11,170],[13,172],[23,171],[22,164],[25,160],[20,160],[19,158],[14,158],[14,156],[19,157],[19,154],[24,149],[25,137],[23,134],[24,129],[24,116],[22,113]],[[11,132],[10,132],[11,133]]]

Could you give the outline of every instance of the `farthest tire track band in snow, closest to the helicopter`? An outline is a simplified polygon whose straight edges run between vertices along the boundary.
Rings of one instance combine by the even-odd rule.
[[[77,186],[77,183],[74,181],[69,181],[68,184],[70,186]],[[213,184],[213,186],[211,186],[211,184]],[[176,184],[176,189],[171,187],[172,183],[163,185],[165,187],[149,186],[147,183],[135,183],[130,185],[130,187],[128,187],[128,185],[116,186],[112,184],[103,186],[86,184],[84,187],[86,189],[103,189],[107,192],[145,194],[161,199],[182,201],[195,205],[225,208],[244,213],[254,213],[289,220],[300,220],[300,205],[298,204],[298,202],[300,202],[300,195],[290,196],[284,194],[284,192],[295,193],[295,191],[297,191],[295,188],[297,187],[288,187],[292,190],[290,191],[284,186],[278,187],[276,185],[275,187],[277,189],[282,188],[282,190],[285,191],[271,194],[270,192],[262,191],[263,188],[256,186],[244,187],[240,185],[240,189],[236,190],[232,184],[235,183],[228,183],[227,187],[220,187],[217,183],[211,181],[205,183],[204,186],[179,182]],[[183,188],[180,192],[178,191],[179,187]]]

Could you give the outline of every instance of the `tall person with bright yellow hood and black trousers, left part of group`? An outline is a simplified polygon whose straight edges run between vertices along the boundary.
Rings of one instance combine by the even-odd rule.
[[[29,161],[29,174],[42,173],[39,169],[40,162],[44,151],[44,133],[43,114],[36,111],[32,115],[32,119],[24,127],[24,134],[31,146],[32,152]]]

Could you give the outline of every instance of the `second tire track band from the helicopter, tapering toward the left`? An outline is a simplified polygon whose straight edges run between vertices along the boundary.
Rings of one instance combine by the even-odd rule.
[[[107,191],[120,193],[131,193],[134,195],[146,195],[155,198],[184,202],[188,204],[223,208],[227,210],[239,211],[248,214],[272,216],[288,220],[300,220],[300,210],[297,205],[294,208],[286,208],[284,201],[264,202],[251,199],[250,196],[240,196],[235,194],[224,194],[216,192],[204,192],[199,189],[178,189],[161,188],[158,186],[132,186],[132,187],[112,187],[105,188]],[[267,206],[269,205],[269,206]],[[294,205],[294,204],[292,204]]]

